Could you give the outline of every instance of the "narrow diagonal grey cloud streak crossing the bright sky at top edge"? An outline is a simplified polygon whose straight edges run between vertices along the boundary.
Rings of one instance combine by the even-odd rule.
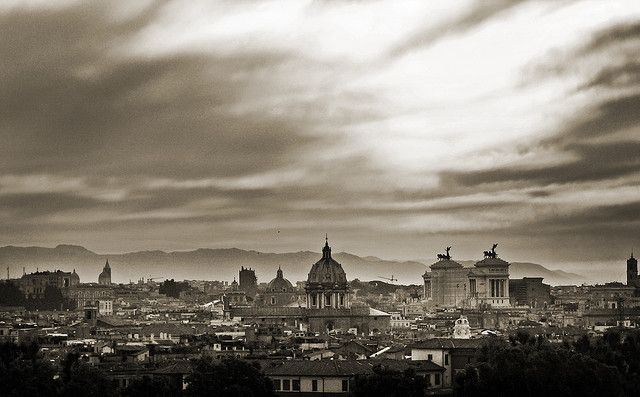
[[[499,16],[525,0],[496,0],[480,1],[469,7],[469,10],[451,21],[429,25],[427,28],[415,32],[400,45],[390,51],[392,56],[401,56],[416,49],[431,45],[449,35],[461,34],[473,29],[488,20]]]

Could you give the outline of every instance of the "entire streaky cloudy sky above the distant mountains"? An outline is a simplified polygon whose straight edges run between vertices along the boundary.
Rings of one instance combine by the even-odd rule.
[[[5,0],[0,37],[1,245],[640,251],[638,1]]]

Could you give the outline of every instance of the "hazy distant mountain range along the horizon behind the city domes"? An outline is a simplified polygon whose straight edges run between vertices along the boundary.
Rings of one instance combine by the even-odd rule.
[[[311,251],[288,253],[264,253],[238,248],[200,248],[194,251],[139,251],[124,254],[97,254],[76,245],[58,245],[55,248],[15,247],[0,248],[0,266],[9,268],[11,278],[39,270],[76,269],[82,282],[96,282],[98,274],[108,259],[115,282],[136,281],[144,278],[174,278],[232,281],[241,266],[255,269],[258,282],[269,282],[281,267],[284,276],[295,283],[306,280],[311,265],[318,261],[320,253]],[[398,279],[401,284],[422,284],[422,274],[427,265],[419,261],[393,261],[373,256],[360,257],[346,252],[334,253],[352,280]],[[473,261],[460,261],[473,266]],[[549,270],[535,263],[514,262],[510,266],[512,278],[544,277],[544,282],[557,284],[581,284],[584,276],[562,270]],[[4,278],[4,277],[3,277]]]

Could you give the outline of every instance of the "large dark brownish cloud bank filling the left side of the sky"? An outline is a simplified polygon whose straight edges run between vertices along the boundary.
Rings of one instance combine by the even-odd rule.
[[[124,22],[103,11],[0,15],[5,172],[236,175],[286,164],[312,142],[299,120],[224,110],[282,55],[115,55],[155,8]]]

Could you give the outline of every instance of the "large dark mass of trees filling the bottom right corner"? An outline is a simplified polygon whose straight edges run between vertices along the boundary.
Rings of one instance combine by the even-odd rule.
[[[576,343],[550,343],[518,333],[493,340],[455,377],[459,396],[632,396],[640,393],[640,332]]]

